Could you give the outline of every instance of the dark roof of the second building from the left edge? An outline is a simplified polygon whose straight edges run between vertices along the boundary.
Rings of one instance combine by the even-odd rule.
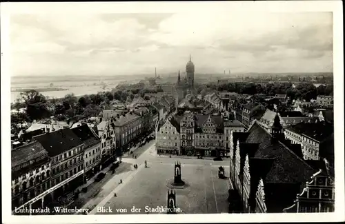
[[[50,157],[57,156],[83,144],[79,137],[68,128],[34,136],[34,139],[43,145]]]

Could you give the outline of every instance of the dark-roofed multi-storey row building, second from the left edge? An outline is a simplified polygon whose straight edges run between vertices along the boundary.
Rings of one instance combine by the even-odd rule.
[[[75,196],[73,191],[83,183],[84,143],[67,128],[34,139],[41,143],[50,157],[51,187],[44,200],[68,203]]]

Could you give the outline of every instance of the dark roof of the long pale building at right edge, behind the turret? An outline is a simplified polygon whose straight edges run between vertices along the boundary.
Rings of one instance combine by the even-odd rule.
[[[334,133],[333,125],[325,121],[317,123],[297,123],[296,125],[291,125],[287,129],[298,134],[304,134],[320,142]]]

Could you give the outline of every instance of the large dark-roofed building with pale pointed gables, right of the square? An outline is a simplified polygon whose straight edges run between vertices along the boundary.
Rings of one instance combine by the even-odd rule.
[[[271,132],[255,121],[248,132],[233,132],[232,139],[230,181],[244,212],[282,212],[315,173],[286,143],[279,116]]]

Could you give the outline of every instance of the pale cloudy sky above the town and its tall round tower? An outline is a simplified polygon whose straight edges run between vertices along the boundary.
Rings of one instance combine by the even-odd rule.
[[[331,12],[12,14],[10,46],[12,76],[333,72]]]

